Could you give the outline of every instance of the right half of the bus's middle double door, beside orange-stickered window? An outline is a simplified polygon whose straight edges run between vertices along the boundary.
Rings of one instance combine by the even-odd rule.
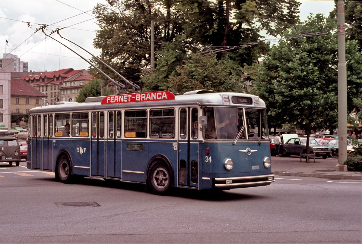
[[[107,177],[121,178],[121,111],[108,112]]]

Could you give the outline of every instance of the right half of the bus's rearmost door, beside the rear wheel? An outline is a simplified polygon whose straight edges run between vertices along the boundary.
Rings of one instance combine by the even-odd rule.
[[[49,138],[49,119],[52,118],[52,115],[43,115],[43,168],[42,170],[52,170],[52,140]]]

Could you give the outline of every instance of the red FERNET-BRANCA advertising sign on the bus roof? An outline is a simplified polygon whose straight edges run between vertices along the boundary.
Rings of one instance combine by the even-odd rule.
[[[169,91],[151,91],[145,93],[132,93],[132,94],[107,96],[102,99],[101,104],[151,102],[151,101],[164,101],[164,100],[174,100],[174,99],[175,95]]]

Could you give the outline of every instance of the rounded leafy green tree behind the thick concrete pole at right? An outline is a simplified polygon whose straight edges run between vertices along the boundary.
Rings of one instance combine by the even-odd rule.
[[[271,48],[260,67],[253,92],[268,104],[269,126],[295,123],[309,136],[311,128],[334,128],[337,123],[337,65],[338,41],[336,21],[321,14],[310,16],[301,26],[286,31]],[[299,30],[317,33],[299,37]],[[319,34],[318,34],[319,33]],[[296,38],[298,37],[298,38]],[[362,90],[361,52],[355,42],[346,43],[348,70],[348,111],[354,107],[353,98]],[[356,92],[357,91],[357,92]]]

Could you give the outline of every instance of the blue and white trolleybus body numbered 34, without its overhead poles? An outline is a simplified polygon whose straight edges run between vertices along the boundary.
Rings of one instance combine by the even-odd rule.
[[[100,177],[166,194],[274,182],[266,107],[254,95],[157,91],[58,102],[31,109],[29,128],[27,167],[64,183]]]

